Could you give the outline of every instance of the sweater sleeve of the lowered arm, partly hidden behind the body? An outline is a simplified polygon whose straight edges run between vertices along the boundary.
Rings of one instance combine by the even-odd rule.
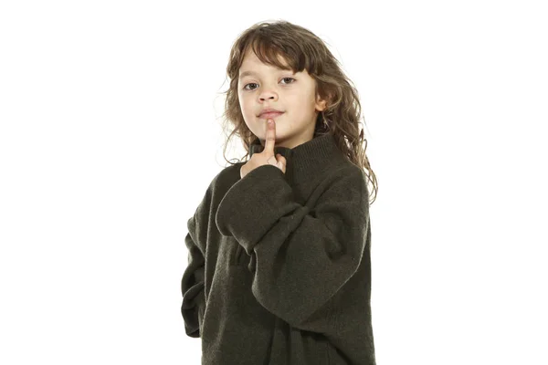
[[[183,304],[181,314],[184,319],[186,335],[192,338],[200,337],[200,326],[205,313],[205,258],[198,245],[195,244],[195,215],[187,222],[188,233],[184,237],[184,245],[188,249],[188,266],[184,269],[181,280]]]

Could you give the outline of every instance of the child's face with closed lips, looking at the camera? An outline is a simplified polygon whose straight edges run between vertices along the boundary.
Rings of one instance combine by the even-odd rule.
[[[254,74],[241,77],[246,71]],[[266,108],[284,112],[273,118],[276,146],[293,148],[312,139],[318,112],[325,109],[325,101],[316,97],[316,80],[306,69],[293,74],[291,70],[266,65],[250,49],[239,75],[237,95],[242,115],[263,145],[267,119],[258,115]]]

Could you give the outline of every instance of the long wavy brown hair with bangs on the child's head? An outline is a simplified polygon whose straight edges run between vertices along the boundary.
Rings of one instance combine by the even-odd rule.
[[[237,96],[238,72],[249,47],[265,64],[291,69],[293,72],[300,72],[306,68],[311,78],[316,80],[316,94],[321,96],[321,99],[329,100],[326,109],[318,113],[314,138],[332,133],[337,146],[350,162],[364,170],[368,181],[373,184],[376,198],[376,176],[365,154],[367,140],[364,138],[364,130],[359,128],[359,124],[362,124],[362,109],[358,91],[352,81],[344,75],[340,63],[321,38],[310,30],[288,21],[256,23],[242,32],[232,46],[227,65],[230,86],[223,93],[226,94],[226,99],[222,127],[224,130],[231,130],[223,150],[225,160],[230,164],[247,162],[249,146],[257,138],[248,129]],[[281,63],[279,56],[288,62],[290,68]],[[232,163],[227,160],[226,151],[227,142],[235,134],[242,141],[247,153],[242,157],[245,160],[240,159]]]

